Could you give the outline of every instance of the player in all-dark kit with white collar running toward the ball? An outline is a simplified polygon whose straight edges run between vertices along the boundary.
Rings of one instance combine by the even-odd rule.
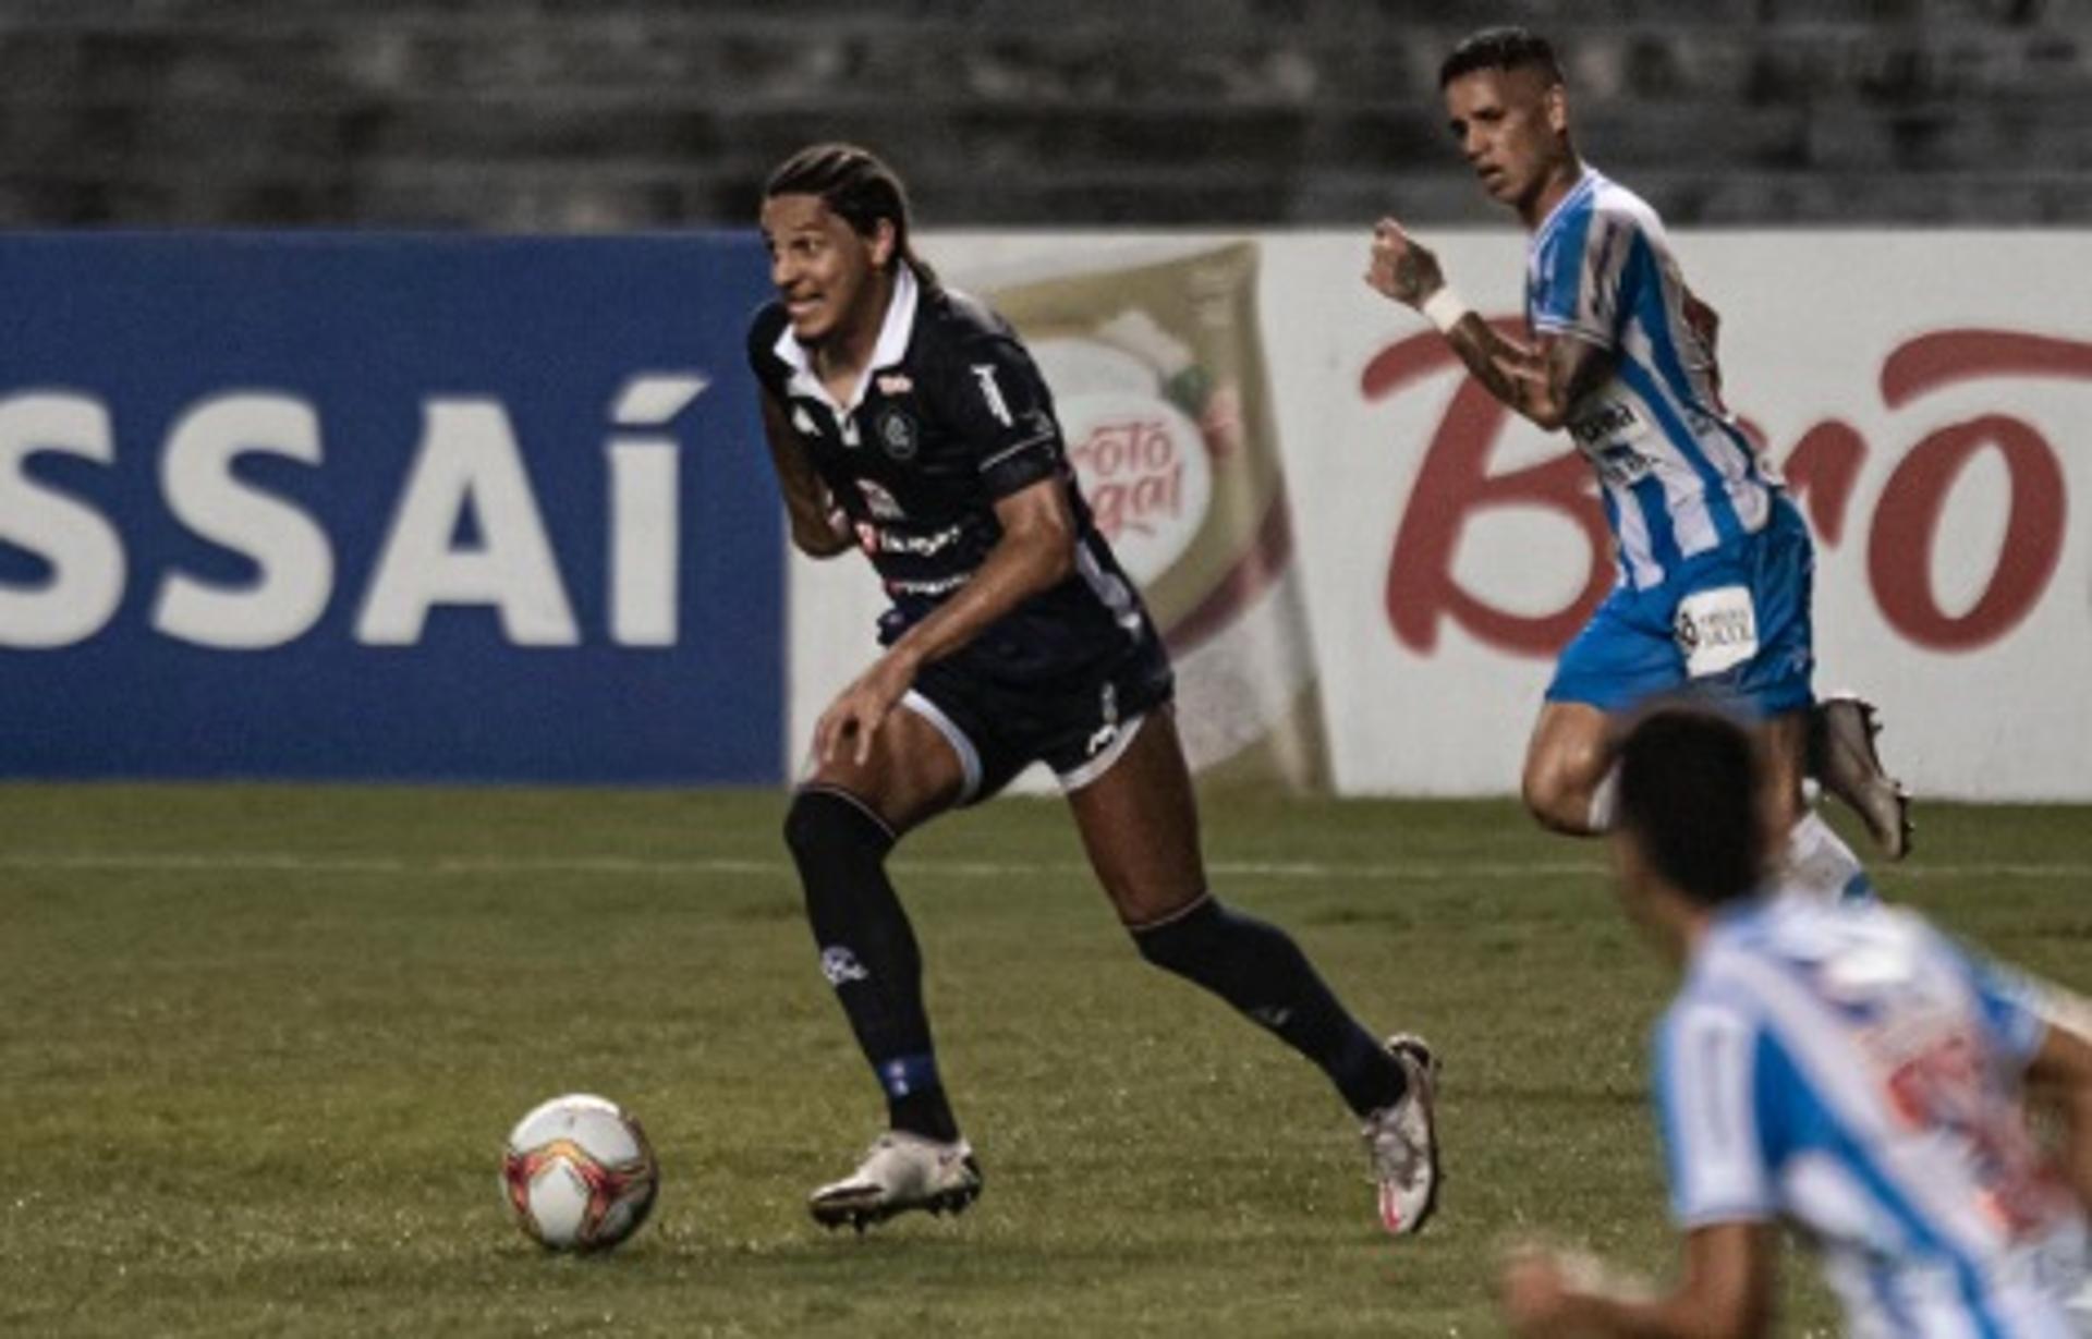
[[[776,299],[749,331],[793,542],[862,548],[885,651],[822,713],[784,837],[820,967],[887,1092],[889,1130],[812,1197],[822,1224],[962,1209],[979,1193],[885,858],[908,831],[1050,766],[1140,956],[1314,1061],[1364,1121],[1381,1222],[1431,1213],[1435,1061],[1374,1042],[1280,929],[1220,904],[1155,626],[1090,523],[1031,356],[908,245],[900,180],[818,144],[770,178]]]

